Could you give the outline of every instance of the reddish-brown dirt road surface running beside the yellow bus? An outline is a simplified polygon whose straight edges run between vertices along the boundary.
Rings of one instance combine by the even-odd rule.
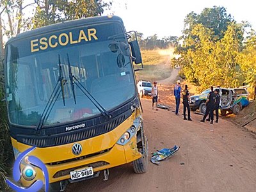
[[[177,154],[159,166],[150,163],[147,173],[135,174],[127,164],[111,169],[108,181],[100,173],[67,191],[255,191],[256,140],[250,132],[223,119],[202,123],[195,114],[188,122],[172,112],[174,106],[152,110],[150,99],[142,104],[149,152],[179,145]]]

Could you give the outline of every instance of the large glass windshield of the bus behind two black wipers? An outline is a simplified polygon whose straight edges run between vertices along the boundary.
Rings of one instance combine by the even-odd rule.
[[[109,44],[113,42],[113,38],[109,38],[111,35],[115,36],[118,33],[118,42],[125,42],[122,26],[98,24],[84,27],[83,30],[88,31],[88,28],[97,31],[97,33],[93,32],[91,41],[86,33],[79,35],[81,31],[79,28],[54,33],[53,38],[51,33],[44,37],[41,35],[6,45],[6,99],[8,116],[12,124],[32,127],[38,125],[60,76],[65,79],[63,84],[65,106],[62,94],[58,95],[44,125],[73,122],[100,115],[99,109],[76,84],[74,84],[75,104],[68,63],[72,75],[107,111],[120,106],[135,95],[131,59],[122,55],[124,64],[122,65],[118,62],[122,51],[109,49]],[[76,31],[78,31],[77,35]],[[60,38],[63,33],[67,35],[62,35]],[[76,43],[71,44],[71,37],[68,36],[70,33],[74,35],[72,41]],[[79,38],[82,36],[83,40],[80,39],[79,42],[76,36]],[[51,41],[46,43],[49,38]],[[25,46],[28,41],[30,50]]]

